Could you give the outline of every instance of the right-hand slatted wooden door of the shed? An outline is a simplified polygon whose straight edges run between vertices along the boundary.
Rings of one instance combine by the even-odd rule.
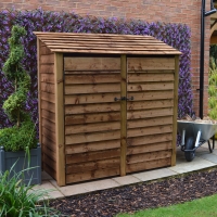
[[[175,60],[128,58],[126,173],[171,164]]]

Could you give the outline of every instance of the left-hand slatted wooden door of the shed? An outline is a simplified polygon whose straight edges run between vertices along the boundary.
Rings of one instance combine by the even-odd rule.
[[[64,58],[66,183],[119,175],[119,58]]]

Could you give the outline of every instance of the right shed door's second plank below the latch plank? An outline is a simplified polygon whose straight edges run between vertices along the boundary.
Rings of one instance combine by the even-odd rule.
[[[173,107],[142,110],[142,111],[128,111],[127,119],[169,116],[169,115],[173,115],[173,112],[174,112]]]

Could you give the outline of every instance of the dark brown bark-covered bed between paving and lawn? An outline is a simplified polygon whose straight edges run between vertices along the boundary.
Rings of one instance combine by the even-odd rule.
[[[217,168],[176,178],[68,196],[50,202],[62,216],[113,217],[217,193]]]

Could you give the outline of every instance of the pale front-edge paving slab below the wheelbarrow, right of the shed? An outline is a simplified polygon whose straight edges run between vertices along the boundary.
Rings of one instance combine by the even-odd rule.
[[[203,159],[202,157],[197,157],[195,156],[194,159],[192,162],[181,162],[178,163],[176,166],[169,167],[170,170],[176,171],[178,174],[184,174],[184,173],[189,173],[189,171],[194,171],[194,170],[200,170],[200,169],[204,169],[207,167],[213,167],[216,164]]]

